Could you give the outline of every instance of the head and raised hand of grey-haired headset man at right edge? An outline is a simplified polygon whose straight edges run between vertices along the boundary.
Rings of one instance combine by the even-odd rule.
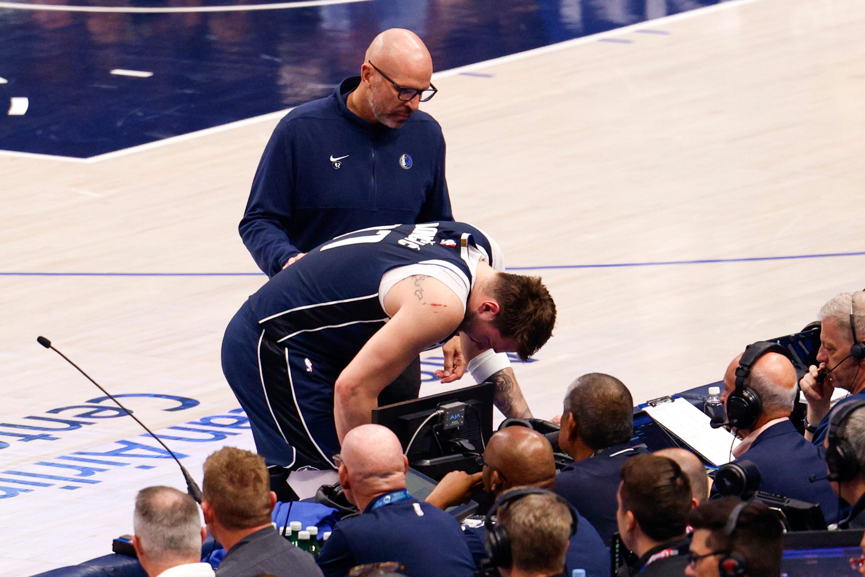
[[[829,430],[832,393],[849,391],[836,407],[865,400],[865,292],[842,292],[820,309],[818,366],[811,365],[799,386],[808,401],[805,439],[823,444]],[[852,321],[852,322],[851,322]]]

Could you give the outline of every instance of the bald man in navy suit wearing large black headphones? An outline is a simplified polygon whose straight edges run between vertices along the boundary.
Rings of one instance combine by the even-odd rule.
[[[756,343],[755,345],[756,346]],[[742,355],[736,356],[724,375],[721,401],[735,390],[736,369]],[[736,433],[742,442],[733,450],[734,463],[743,460],[759,467],[762,478],[759,489],[770,493],[817,503],[827,523],[838,519],[838,499],[826,479],[811,483],[812,476],[826,475],[826,465],[817,447],[798,433],[790,420],[796,399],[796,369],[786,356],[767,352],[759,356],[744,383],[759,397],[759,416]],[[713,489],[714,492],[714,489]]]

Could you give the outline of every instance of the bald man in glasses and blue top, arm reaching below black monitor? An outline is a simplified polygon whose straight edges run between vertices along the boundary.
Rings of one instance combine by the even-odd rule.
[[[498,497],[514,487],[529,486],[551,489],[555,477],[553,447],[546,437],[525,426],[509,426],[490,437],[484,451],[484,471],[468,475],[453,471],[445,475],[436,486],[427,503],[446,509],[458,503],[466,503],[477,485]],[[465,527],[463,530],[469,543],[471,555],[480,568],[486,550],[484,527]],[[565,561],[567,575],[574,569],[583,569],[587,577],[606,577],[610,574],[610,553],[604,540],[585,517],[578,513],[577,533],[571,538]]]

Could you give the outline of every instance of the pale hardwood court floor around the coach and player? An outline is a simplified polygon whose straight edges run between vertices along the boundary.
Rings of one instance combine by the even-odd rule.
[[[863,27],[865,0],[739,1],[473,68],[491,76],[437,77],[426,110],[447,138],[454,214],[510,266],[535,267],[560,311],[538,362],[516,367],[535,415],[559,413],[588,371],[638,402],[717,381],[747,343],[865,285],[861,254],[735,260],[865,250]],[[276,122],[98,163],[0,157],[3,271],[255,272],[236,226]],[[544,268],[689,260],[734,261]],[[154,428],[224,414],[237,403],[222,330],[263,281],[3,276],[0,419],[37,426],[23,419],[99,396],[40,334],[112,392],[200,401],[178,414],[131,398]],[[129,419],[93,419],[56,441],[2,437],[0,460],[26,469],[136,435]],[[199,476],[214,446],[178,444]],[[181,486],[157,463],[0,500],[0,575],[106,554],[136,490]]]

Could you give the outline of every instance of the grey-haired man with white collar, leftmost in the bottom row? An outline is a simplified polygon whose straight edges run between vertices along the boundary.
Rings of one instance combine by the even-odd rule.
[[[202,560],[202,527],[192,497],[171,487],[147,487],[135,498],[132,547],[148,577],[214,577]]]

